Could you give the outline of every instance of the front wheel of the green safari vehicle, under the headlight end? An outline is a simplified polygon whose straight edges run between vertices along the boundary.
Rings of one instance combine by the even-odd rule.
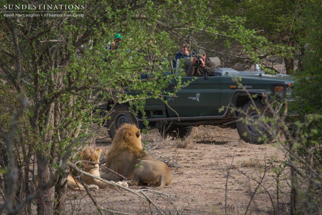
[[[268,134],[265,126],[256,125],[256,123],[253,123],[252,120],[247,120],[247,118],[252,118],[256,121],[262,116],[271,116],[271,113],[265,109],[262,103],[255,102],[255,105],[258,111],[251,102],[242,107],[242,111],[237,115],[238,121],[236,122],[236,129],[239,136],[245,142],[252,144],[263,144],[263,135],[267,135],[268,141],[272,141],[274,138]],[[270,127],[274,126],[276,128],[276,132],[279,130],[277,125],[271,125],[270,123],[268,124]]]

